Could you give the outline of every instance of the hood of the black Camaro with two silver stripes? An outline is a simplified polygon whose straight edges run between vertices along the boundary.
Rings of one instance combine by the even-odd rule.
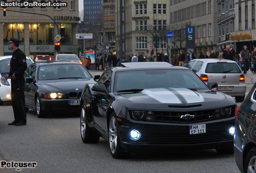
[[[140,93],[122,93],[119,95],[129,101],[145,104],[192,104],[222,101],[226,99],[223,93],[213,91],[192,91],[186,88],[145,89]]]

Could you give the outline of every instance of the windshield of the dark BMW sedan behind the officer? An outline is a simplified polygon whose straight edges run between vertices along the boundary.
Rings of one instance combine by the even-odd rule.
[[[64,78],[92,78],[92,76],[85,67],[80,64],[45,65],[39,68],[39,80]]]

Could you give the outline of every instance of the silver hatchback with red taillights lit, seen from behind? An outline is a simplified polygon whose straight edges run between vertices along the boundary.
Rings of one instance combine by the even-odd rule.
[[[244,101],[246,93],[245,77],[238,64],[227,59],[194,59],[186,67],[192,69],[207,82],[217,82],[217,91],[235,97],[237,102]]]

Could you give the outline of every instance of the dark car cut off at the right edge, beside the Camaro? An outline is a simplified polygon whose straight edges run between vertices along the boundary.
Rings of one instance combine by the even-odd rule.
[[[235,162],[242,173],[256,172],[256,83],[235,111]]]

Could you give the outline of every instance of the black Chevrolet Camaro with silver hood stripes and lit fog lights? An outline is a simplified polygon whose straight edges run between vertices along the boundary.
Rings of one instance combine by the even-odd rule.
[[[233,153],[236,104],[231,96],[211,90],[216,87],[167,62],[108,68],[83,90],[82,140],[108,140],[114,158],[152,148]]]

